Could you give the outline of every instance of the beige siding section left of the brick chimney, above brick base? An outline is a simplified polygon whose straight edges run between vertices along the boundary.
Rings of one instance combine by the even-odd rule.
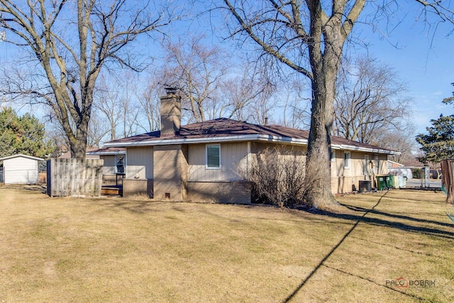
[[[126,178],[153,179],[153,147],[126,148]]]

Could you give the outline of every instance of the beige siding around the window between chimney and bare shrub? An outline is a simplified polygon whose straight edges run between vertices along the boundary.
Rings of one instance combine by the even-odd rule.
[[[221,143],[221,169],[206,168],[206,145],[189,145],[189,182],[236,181],[238,163],[248,155],[248,143]]]

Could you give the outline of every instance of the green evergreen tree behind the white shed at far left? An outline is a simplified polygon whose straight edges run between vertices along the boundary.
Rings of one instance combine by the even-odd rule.
[[[0,111],[0,158],[18,153],[47,158],[54,150],[45,140],[44,123],[28,113],[17,116],[11,108]]]

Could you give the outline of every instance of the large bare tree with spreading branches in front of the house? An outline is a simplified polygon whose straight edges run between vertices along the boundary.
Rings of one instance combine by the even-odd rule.
[[[345,42],[366,4],[376,4],[384,16],[389,4],[398,1],[366,0],[224,0],[231,35],[258,45],[261,57],[270,57],[311,83],[311,127],[306,172],[317,170],[321,179],[309,192],[317,208],[331,206],[330,153],[336,78]],[[416,0],[423,13],[436,13],[453,22],[452,10],[441,1]],[[377,16],[381,12],[374,13]],[[427,15],[424,15],[427,16]],[[374,17],[372,17],[374,18]],[[426,19],[428,21],[428,19]],[[234,25],[234,26],[232,26]],[[246,37],[246,39],[244,39]]]

